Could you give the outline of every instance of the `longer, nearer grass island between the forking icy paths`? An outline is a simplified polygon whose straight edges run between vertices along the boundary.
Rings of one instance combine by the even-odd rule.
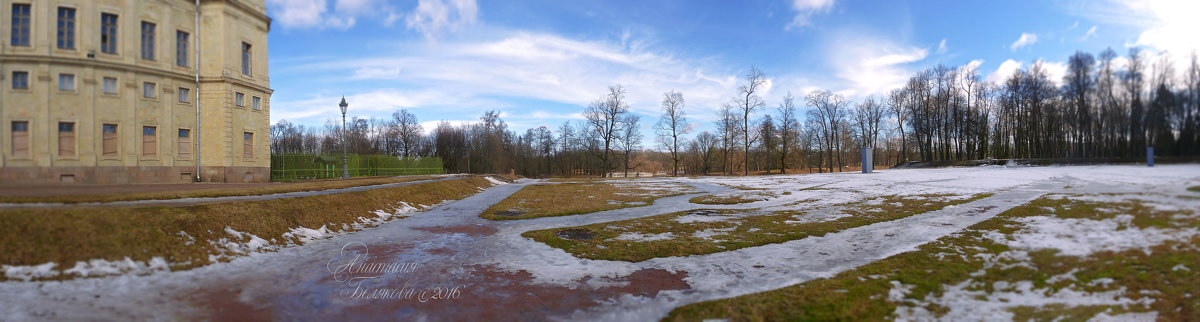
[[[563,249],[576,257],[641,262],[655,257],[714,254],[824,235],[937,210],[950,204],[967,203],[986,196],[990,195],[976,195],[965,199],[948,199],[936,195],[886,196],[821,209],[840,211],[842,216],[815,222],[799,220],[799,216],[805,214],[803,211],[690,210],[578,227],[529,231],[521,235]],[[595,233],[595,237],[587,240],[564,239],[557,235],[557,232],[563,229],[584,229]],[[671,238],[630,240],[630,237],[636,235]]]

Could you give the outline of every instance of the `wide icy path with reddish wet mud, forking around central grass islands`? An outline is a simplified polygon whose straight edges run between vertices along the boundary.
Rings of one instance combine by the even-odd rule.
[[[805,186],[841,183],[850,178],[846,175],[854,174],[814,177],[806,179],[810,184]],[[871,178],[888,185],[907,180]],[[1014,180],[1020,184],[995,190],[991,197],[896,221],[820,238],[638,263],[581,260],[520,234],[696,208],[750,209],[767,202],[691,204],[689,198],[703,195],[695,193],[661,198],[647,207],[575,216],[520,221],[488,221],[478,216],[534,183],[523,180],[361,232],[187,272],[64,282],[4,282],[0,303],[12,305],[0,305],[0,316],[653,321],[679,305],[830,276],[913,250],[1043,193],[1067,185],[1092,184],[1050,174]],[[702,180],[682,181],[704,193],[731,191]],[[937,185],[941,180],[907,183]],[[352,263],[358,263],[360,270]]]

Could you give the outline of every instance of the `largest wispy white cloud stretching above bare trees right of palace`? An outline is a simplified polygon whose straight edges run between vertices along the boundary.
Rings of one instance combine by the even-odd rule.
[[[383,114],[401,107],[437,108],[446,115],[455,114],[452,112],[476,114],[485,109],[515,109],[521,112],[517,117],[528,117],[511,120],[514,125],[536,125],[542,118],[556,124],[577,115],[534,115],[521,109],[528,106],[514,106],[512,100],[505,97],[565,108],[553,111],[582,111],[588,102],[604,95],[610,84],[624,85],[630,107],[643,114],[658,115],[666,90],[683,93],[689,108],[695,114],[702,114],[706,113],[702,109],[714,108],[728,100],[742,74],[738,71],[709,72],[706,66],[642,46],[550,34],[504,32],[491,41],[416,42],[410,48],[400,54],[386,53],[374,58],[295,64],[281,67],[280,72],[334,74],[326,77],[330,88],[346,82],[370,82],[385,88],[347,95],[347,100],[354,99],[350,108],[356,111]],[[283,112],[274,109],[272,119],[328,118],[329,102],[336,102],[341,93],[300,95],[307,96],[272,102],[275,107],[287,107]],[[456,111],[444,111],[451,107]]]

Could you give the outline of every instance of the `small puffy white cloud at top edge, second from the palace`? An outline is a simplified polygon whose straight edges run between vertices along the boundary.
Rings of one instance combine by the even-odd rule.
[[[434,41],[442,32],[475,23],[478,16],[475,0],[420,0],[406,23],[425,34],[426,40]]]

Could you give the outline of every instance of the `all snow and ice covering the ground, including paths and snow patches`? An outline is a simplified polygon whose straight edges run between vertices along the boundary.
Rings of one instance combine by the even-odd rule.
[[[361,232],[326,237],[320,229],[294,231],[304,245],[236,257],[186,272],[154,269],[140,274],[68,281],[0,282],[0,316],[5,320],[176,320],[220,318],[222,312],[248,310],[276,320],[318,317],[476,320],[488,317],[542,317],[550,320],[652,321],[673,308],[719,298],[775,290],[871,263],[914,250],[937,238],[959,232],[1015,205],[1046,193],[1144,193],[1156,207],[1196,209],[1195,199],[1160,197],[1186,192],[1200,185],[1200,166],[1072,166],[1072,167],[976,167],[947,169],[877,171],[871,174],[835,173],[769,177],[707,177],[653,179],[647,183],[678,181],[700,193],[667,197],[646,207],[607,210],[584,215],[490,221],[479,214],[533,180],[499,185],[475,196],[410,214]],[[762,187],[773,197],[742,204],[692,204],[704,193],[732,193],[733,187]],[[791,193],[784,193],[791,192]],[[644,262],[581,260],[570,254],[521,237],[533,229],[637,219],[690,209],[788,210],[823,207],[899,195],[944,195],[966,198],[994,193],[979,201],[944,208],[901,220],[878,222],[823,237],[739,249],[718,254],[654,258]],[[1194,192],[1192,192],[1194,193]],[[1200,193],[1194,193],[1200,195]],[[1100,198],[1100,197],[1098,197]],[[805,202],[806,201],[806,202]],[[1091,243],[1070,232],[1096,235],[1111,233],[1126,219],[1105,222],[1030,219],[1037,229],[1020,231],[1014,245],[1062,246],[1087,254],[1093,249],[1141,248],[1189,232],[1139,229],[1106,238],[1116,242]],[[1063,233],[1066,231],[1067,233]],[[635,235],[630,240],[672,238],[672,234]],[[1134,243],[1133,239],[1140,239]],[[1123,242],[1122,242],[1123,240]],[[349,245],[370,248],[372,258],[419,267],[403,281],[366,280],[365,286],[416,285],[430,290],[434,284],[460,285],[461,297],[440,300],[359,300],[346,297],[348,286],[330,270],[332,262],[347,256]],[[30,268],[36,274],[37,268]],[[638,272],[660,269],[685,273],[686,290],[654,292],[618,291]],[[1188,268],[1184,268],[1188,269]],[[607,288],[606,288],[607,287]],[[353,293],[354,287],[349,287]],[[458,288],[455,288],[458,290]],[[902,292],[902,285],[898,292]],[[1037,300],[1034,290],[1012,285],[996,300]],[[538,292],[554,297],[527,300]],[[964,291],[965,294],[967,294]],[[1024,296],[1022,296],[1024,294]],[[1055,298],[1067,293],[1037,293]],[[901,294],[902,296],[902,294]],[[977,294],[967,294],[972,298]],[[1091,297],[1121,300],[1106,293]],[[1001,298],[1013,297],[1013,298]],[[943,300],[943,299],[930,299]],[[944,299],[944,303],[954,303]],[[1136,299],[1127,299],[1134,302]],[[437,302],[437,304],[433,304]],[[521,310],[528,302],[541,309]],[[971,303],[967,303],[971,304]],[[972,304],[973,305],[973,304]],[[550,309],[559,308],[559,309]],[[967,311],[966,318],[986,318]],[[1130,317],[1130,316],[1126,316]],[[1120,318],[1120,317],[1117,317]]]

